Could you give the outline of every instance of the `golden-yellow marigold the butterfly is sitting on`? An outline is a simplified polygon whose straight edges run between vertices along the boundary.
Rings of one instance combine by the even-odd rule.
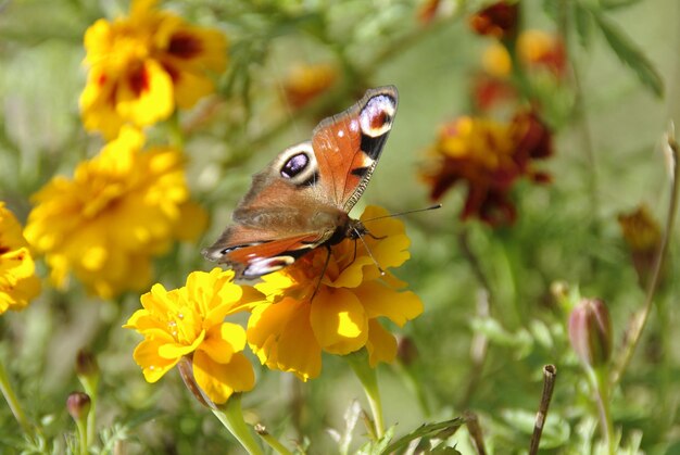
[[[410,257],[410,240],[400,220],[369,220],[386,214],[367,207],[361,217],[370,231],[364,240],[383,269]],[[317,249],[264,276],[255,288],[267,302],[253,308],[248,323],[248,342],[262,364],[305,381],[320,374],[323,351],[345,355],[366,347],[370,366],[392,362],[396,340],[378,319],[403,326],[423,312],[418,296],[403,291],[405,283],[389,273],[381,276],[360,240],[332,247],[319,283],[327,254]]]

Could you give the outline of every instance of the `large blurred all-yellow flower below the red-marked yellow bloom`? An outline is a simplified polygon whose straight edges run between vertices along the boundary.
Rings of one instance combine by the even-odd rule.
[[[54,177],[34,194],[25,235],[46,254],[59,287],[73,270],[103,298],[142,290],[151,282],[152,256],[203,229],[181,152],[142,146],[143,136],[126,127],[100,155],[80,163],[73,178]]]

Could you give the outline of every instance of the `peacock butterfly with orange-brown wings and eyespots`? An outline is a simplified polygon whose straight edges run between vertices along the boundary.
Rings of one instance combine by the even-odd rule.
[[[311,141],[279,153],[253,175],[232,224],[203,255],[232,268],[237,278],[254,279],[316,248],[366,235],[349,212],[378,164],[398,98],[394,86],[370,89],[347,111],[322,121]]]

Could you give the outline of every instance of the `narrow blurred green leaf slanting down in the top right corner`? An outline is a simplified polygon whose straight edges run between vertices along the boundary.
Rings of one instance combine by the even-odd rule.
[[[642,53],[635,43],[618,28],[617,25],[609,22],[601,12],[591,10],[595,17],[600,29],[604,34],[605,39],[616,52],[618,58],[630,66],[640,81],[657,97],[664,96],[664,81],[652,62]]]

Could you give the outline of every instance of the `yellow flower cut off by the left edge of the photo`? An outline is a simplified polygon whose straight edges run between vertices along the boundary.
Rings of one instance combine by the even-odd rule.
[[[0,201],[0,314],[25,308],[39,293],[40,281],[22,227]]]

